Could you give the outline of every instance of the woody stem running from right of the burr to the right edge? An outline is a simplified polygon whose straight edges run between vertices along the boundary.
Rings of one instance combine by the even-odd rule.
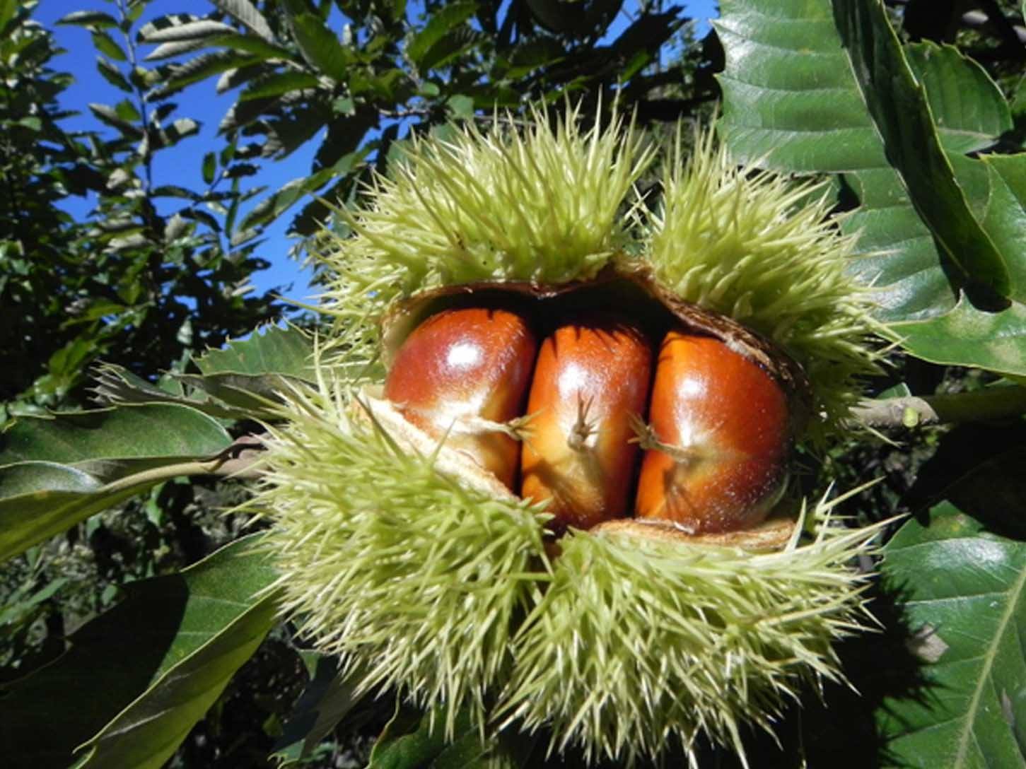
[[[855,421],[874,429],[1002,419],[1026,413],[1026,387],[865,400],[852,409],[852,413]]]

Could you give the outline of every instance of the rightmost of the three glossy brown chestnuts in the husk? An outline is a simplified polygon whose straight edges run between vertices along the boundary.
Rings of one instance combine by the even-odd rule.
[[[787,482],[788,401],[758,364],[711,336],[660,348],[635,512],[692,533],[750,528]]]

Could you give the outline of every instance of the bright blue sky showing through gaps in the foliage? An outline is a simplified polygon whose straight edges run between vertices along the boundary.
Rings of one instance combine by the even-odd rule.
[[[687,15],[698,23],[699,35],[708,31],[708,18],[716,14],[714,0],[684,0]],[[211,3],[206,0],[154,0],[144,14],[142,22],[167,13],[194,13],[203,15],[209,12]],[[637,7],[635,0],[624,3],[617,23],[610,28],[615,36],[628,21],[627,13]],[[77,27],[56,27],[54,22],[74,10],[106,10],[116,15],[111,3],[104,0],[41,0],[35,12],[35,18],[54,32],[61,47],[67,52],[52,62],[52,67],[63,72],[70,72],[76,78],[76,83],[69,88],[62,99],[68,110],[80,113],[76,118],[65,123],[70,129],[96,128],[87,105],[101,103],[114,105],[124,97],[105,81],[95,68],[95,51],[89,33]],[[233,100],[232,93],[218,94],[212,81],[202,82],[187,88],[175,97],[179,109],[173,117],[189,117],[201,123],[198,135],[183,140],[177,147],[164,150],[155,155],[154,175],[158,184],[179,184],[184,187],[195,187],[200,176],[200,163],[205,152],[219,148],[216,139],[218,124],[228,111]],[[309,173],[314,153],[322,139],[315,136],[311,141],[293,152],[288,158],[280,161],[264,163],[255,176],[246,179],[252,186],[267,186],[269,190],[282,187],[293,178]],[[258,198],[261,199],[263,196]],[[94,201],[73,201],[70,208],[73,213],[87,211]],[[255,203],[255,201],[253,201]],[[268,270],[253,276],[253,284],[258,291],[276,288],[286,298],[308,299],[312,295],[309,286],[309,271],[300,262],[287,256],[289,247],[294,241],[286,236],[285,231],[291,220],[291,215],[299,206],[286,211],[278,221],[265,231],[266,242],[259,248],[259,255],[271,262]]]

